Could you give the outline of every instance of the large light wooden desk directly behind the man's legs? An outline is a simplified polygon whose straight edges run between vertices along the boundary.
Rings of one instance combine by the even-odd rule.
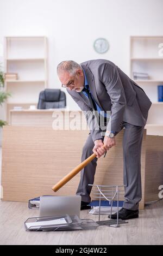
[[[4,201],[28,201],[39,195],[76,193],[80,174],[57,193],[52,186],[80,163],[88,130],[53,130],[51,127],[4,126],[2,143],[2,186]],[[98,160],[94,184],[123,184],[123,130],[116,146]],[[158,199],[163,184],[163,137],[144,131],[141,174],[142,200]],[[93,197],[92,197],[93,198]]]

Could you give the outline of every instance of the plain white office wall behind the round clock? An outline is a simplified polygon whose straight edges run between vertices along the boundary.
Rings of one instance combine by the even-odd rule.
[[[60,87],[56,68],[66,59],[110,59],[129,75],[129,36],[162,35],[162,11],[162,0],[0,0],[0,43],[7,35],[46,35],[49,87]],[[109,40],[103,55],[93,50],[98,37]],[[77,109],[69,96],[67,103]]]

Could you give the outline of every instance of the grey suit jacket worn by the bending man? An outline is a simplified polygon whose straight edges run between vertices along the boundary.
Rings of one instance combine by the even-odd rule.
[[[95,59],[81,63],[85,71],[90,92],[104,111],[111,111],[107,130],[119,132],[122,122],[145,126],[151,101],[146,93],[114,63]],[[91,106],[83,92],[67,90],[82,111]],[[96,122],[96,118],[94,118]],[[92,139],[102,138],[101,130],[90,129]]]

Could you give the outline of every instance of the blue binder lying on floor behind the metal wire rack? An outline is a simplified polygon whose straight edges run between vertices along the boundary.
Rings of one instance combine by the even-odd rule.
[[[99,200],[93,200],[89,204],[91,206],[90,214],[98,215],[99,214]],[[118,201],[118,210],[121,210],[123,207],[123,201]],[[109,215],[111,212],[111,201],[102,200],[101,201],[101,215]],[[117,201],[112,201],[112,212],[117,212]]]

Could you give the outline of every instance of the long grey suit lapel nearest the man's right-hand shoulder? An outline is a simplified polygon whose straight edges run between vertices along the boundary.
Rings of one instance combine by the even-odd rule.
[[[95,99],[95,102],[97,103],[98,106],[102,108],[101,104],[99,103],[99,100],[98,100],[98,96],[97,96],[97,92],[96,92],[96,87],[95,87],[95,80],[94,80],[94,77],[90,71],[90,69],[88,69],[84,64],[82,64],[82,68],[84,69],[85,71],[85,74],[86,74],[86,78],[87,78],[87,81],[88,81],[88,84],[89,84],[89,88],[90,88],[90,92],[93,96],[93,99]]]

